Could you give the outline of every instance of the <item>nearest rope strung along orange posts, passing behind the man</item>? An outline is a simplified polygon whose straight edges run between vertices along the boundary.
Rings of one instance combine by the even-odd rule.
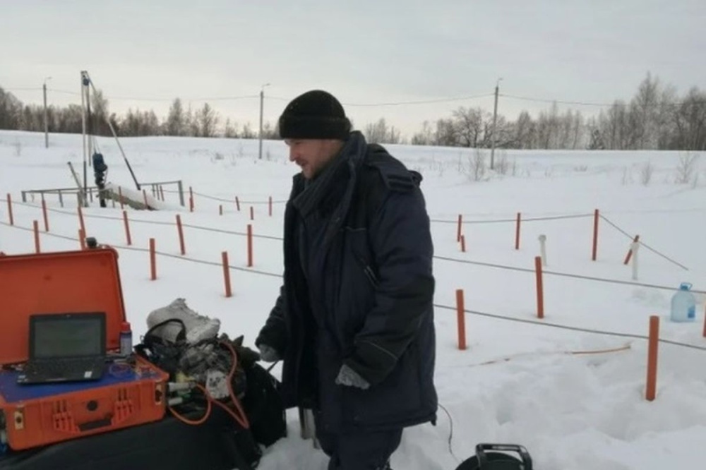
[[[15,228],[15,229],[20,229],[20,230],[23,230],[23,231],[33,231],[33,229],[30,229],[30,228],[28,228],[28,227],[20,227],[20,226],[18,226],[18,225],[10,225],[10,224],[8,224],[7,222],[1,222],[1,221],[0,221],[0,225],[4,225],[4,226],[6,226],[6,227],[11,227],[11,228]],[[42,235],[43,235],[43,236],[53,236],[53,237],[58,238],[58,239],[64,239],[64,240],[73,241],[73,242],[78,241],[78,239],[76,239],[76,238],[73,237],[73,236],[65,236],[65,235],[56,234],[56,233],[52,233],[52,232],[47,232],[47,233],[44,233],[44,234],[42,234]],[[136,252],[140,252],[140,253],[150,253],[150,250],[149,250],[148,248],[137,248],[137,247],[133,247],[133,246],[122,246],[122,245],[112,245],[112,244],[110,244],[110,245],[108,245],[108,246],[111,246],[112,248],[116,248],[116,249],[119,249],[119,250],[136,251]],[[217,262],[214,262],[214,261],[198,260],[198,259],[196,259],[196,258],[189,258],[189,257],[187,257],[187,256],[174,255],[174,254],[172,254],[172,253],[164,253],[164,252],[162,252],[162,251],[155,251],[155,254],[160,255],[160,256],[164,256],[165,258],[172,258],[172,259],[176,259],[176,260],[182,260],[182,261],[186,261],[186,262],[189,262],[189,263],[196,263],[196,264],[209,265],[209,266],[215,266],[215,267],[222,267],[222,266],[223,266],[222,263],[217,263]],[[277,278],[280,278],[280,279],[282,278],[282,275],[277,274],[277,273],[274,273],[274,272],[267,272],[267,271],[262,271],[262,270],[253,270],[253,269],[249,269],[249,268],[245,268],[245,267],[232,266],[232,265],[228,265],[228,268],[229,268],[230,270],[237,270],[237,271],[240,271],[240,272],[250,272],[250,273],[253,273],[253,274],[263,275],[263,276],[267,276],[267,277],[277,277]],[[531,270],[528,270],[528,271],[531,271]],[[634,284],[634,283],[628,283],[628,284]],[[652,287],[657,287],[657,286],[652,286]],[[670,289],[670,290],[671,290],[671,288],[667,288],[667,289]],[[706,292],[702,292],[702,291],[695,291],[695,292],[706,294]],[[436,308],[444,309],[444,310],[451,310],[451,311],[456,311],[456,310],[457,310],[457,308],[455,308],[455,307],[446,306],[446,305],[443,305],[443,304],[441,304],[441,303],[434,303],[433,306],[435,306]],[[517,323],[530,323],[530,324],[532,324],[532,325],[540,325],[540,326],[545,326],[545,327],[554,327],[554,328],[558,328],[558,329],[561,329],[561,330],[570,330],[570,331],[576,331],[576,332],[587,332],[587,333],[592,333],[592,334],[596,334],[596,335],[607,335],[607,336],[615,336],[615,337],[623,337],[623,338],[633,338],[633,339],[648,339],[648,337],[645,336],[645,335],[633,335],[633,334],[630,334],[630,333],[618,333],[618,332],[611,332],[611,331],[606,331],[606,330],[592,330],[592,329],[589,329],[589,328],[572,327],[572,326],[568,326],[568,325],[560,325],[560,324],[558,324],[558,323],[547,323],[547,322],[544,322],[544,321],[528,320],[528,319],[526,319],[526,318],[513,318],[513,317],[508,317],[508,316],[505,316],[505,315],[497,315],[497,314],[494,314],[494,313],[487,313],[487,312],[481,312],[481,311],[473,311],[473,310],[469,310],[469,309],[464,309],[464,313],[469,313],[469,314],[472,314],[472,315],[484,316],[484,317],[487,317],[487,318],[495,318],[495,319],[497,319],[497,320],[507,320],[507,321],[513,321],[513,322],[517,322]],[[672,345],[678,346],[678,347],[687,347],[687,348],[691,348],[691,349],[698,349],[698,350],[701,350],[701,351],[706,351],[706,347],[700,347],[700,346],[696,346],[696,345],[694,345],[694,344],[681,343],[681,342],[671,341],[671,340],[669,340],[669,339],[659,339],[659,341],[660,341],[660,342],[663,342],[663,343],[666,343],[666,344],[672,344]]]

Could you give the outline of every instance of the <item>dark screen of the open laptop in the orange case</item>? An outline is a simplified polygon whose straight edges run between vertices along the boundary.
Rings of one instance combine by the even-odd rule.
[[[35,359],[105,354],[104,313],[61,313],[30,317],[30,357]]]

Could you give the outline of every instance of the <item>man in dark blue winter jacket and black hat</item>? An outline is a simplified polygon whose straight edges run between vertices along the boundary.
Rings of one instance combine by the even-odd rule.
[[[301,173],[284,284],[256,344],[284,361],[285,404],[314,410],[330,470],[383,470],[402,428],[436,421],[433,246],[421,176],[350,127],[320,90],[280,116]]]

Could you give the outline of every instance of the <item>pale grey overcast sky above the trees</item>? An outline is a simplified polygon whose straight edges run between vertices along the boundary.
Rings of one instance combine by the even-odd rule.
[[[80,103],[85,69],[111,111],[181,97],[258,95],[265,120],[313,88],[332,92],[357,128],[385,117],[411,135],[457,107],[492,112],[501,94],[629,100],[647,71],[681,94],[706,88],[705,0],[0,0],[0,86],[23,102]],[[128,100],[126,98],[139,98]],[[149,101],[156,100],[156,101]],[[257,99],[209,100],[225,121],[258,122]],[[549,104],[501,97],[514,119]],[[585,114],[596,107],[578,107]]]

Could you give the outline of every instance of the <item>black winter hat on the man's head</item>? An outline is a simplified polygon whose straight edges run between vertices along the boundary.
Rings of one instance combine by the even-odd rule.
[[[283,139],[347,140],[351,123],[336,98],[322,90],[311,90],[294,98],[280,116]]]

